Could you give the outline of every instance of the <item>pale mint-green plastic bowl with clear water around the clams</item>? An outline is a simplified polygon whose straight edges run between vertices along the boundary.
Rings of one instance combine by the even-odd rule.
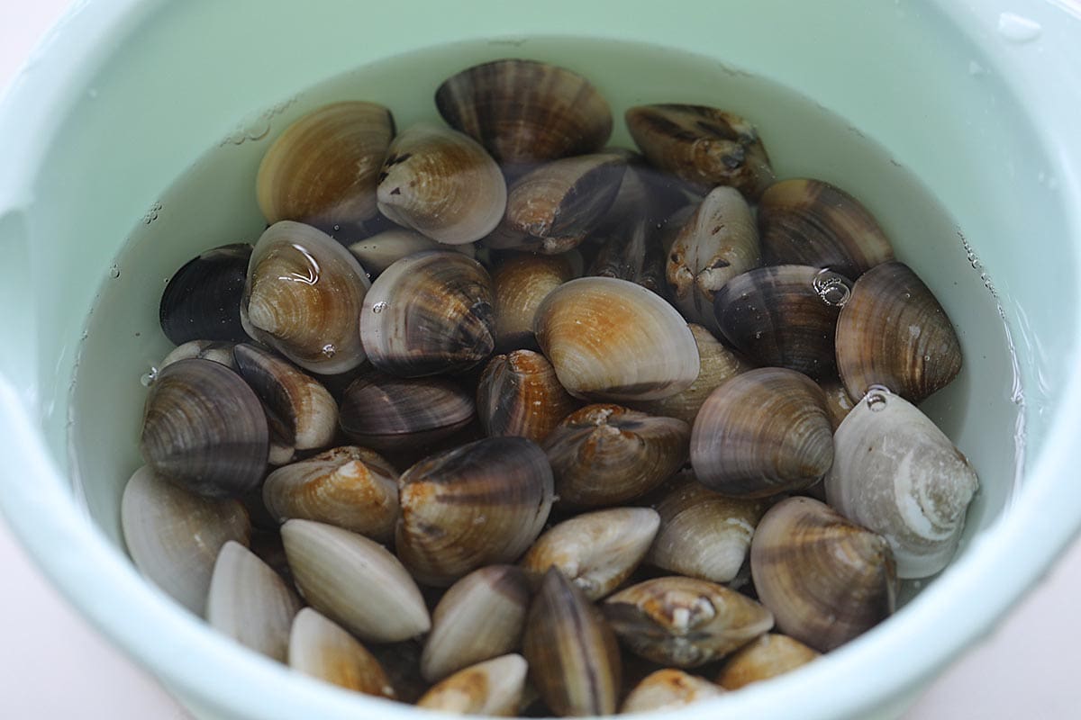
[[[929,412],[983,489],[958,557],[889,622],[670,717],[895,716],[1081,527],[1081,76],[1064,72],[1079,38],[1067,0],[80,3],[0,106],[0,247],[22,269],[0,284],[0,507],[74,604],[198,717],[421,718],[241,649],[129,561],[119,497],[138,378],[165,348],[161,282],[257,227],[244,178],[326,79],[400,122],[431,114],[429,85],[455,63],[501,56],[579,69],[615,105],[709,93],[759,122],[785,175],[856,192],[936,293],[966,366]]]

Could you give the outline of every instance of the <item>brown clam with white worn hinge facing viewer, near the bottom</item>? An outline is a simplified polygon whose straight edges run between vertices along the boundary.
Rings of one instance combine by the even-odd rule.
[[[773,627],[773,615],[758,602],[692,578],[648,580],[609,597],[601,609],[631,652],[684,668],[723,657]]]

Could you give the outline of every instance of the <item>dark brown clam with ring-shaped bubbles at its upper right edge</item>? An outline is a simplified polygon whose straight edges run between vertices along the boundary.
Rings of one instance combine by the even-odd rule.
[[[811,266],[758,268],[717,291],[717,327],[759,365],[828,376],[835,370],[837,317],[851,286],[848,279]]]

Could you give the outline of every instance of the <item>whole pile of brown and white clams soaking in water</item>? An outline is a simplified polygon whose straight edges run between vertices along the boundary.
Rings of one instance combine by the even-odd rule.
[[[122,502],[150,580],[355,691],[580,716],[785,673],[944,568],[977,479],[917,405],[960,345],[858,201],[710,107],[605,147],[550,65],[436,105],[295,122],[254,247],[168,284]]]

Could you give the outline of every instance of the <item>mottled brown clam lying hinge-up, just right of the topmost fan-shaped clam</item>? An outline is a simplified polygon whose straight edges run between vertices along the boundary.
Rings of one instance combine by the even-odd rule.
[[[751,200],[773,182],[758,132],[739,116],[700,105],[642,105],[627,110],[626,120],[646,160],[688,182],[730,186]]]

